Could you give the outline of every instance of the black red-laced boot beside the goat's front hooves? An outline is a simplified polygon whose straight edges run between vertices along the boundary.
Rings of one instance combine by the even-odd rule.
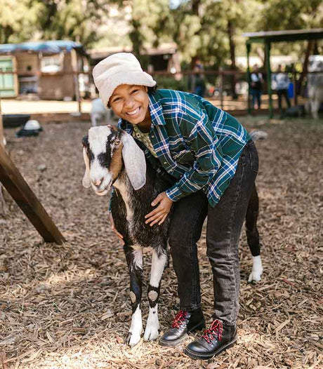
[[[180,310],[173,320],[171,329],[159,339],[159,344],[176,346],[185,340],[187,333],[203,328],[205,328],[205,321],[201,309],[191,312]]]

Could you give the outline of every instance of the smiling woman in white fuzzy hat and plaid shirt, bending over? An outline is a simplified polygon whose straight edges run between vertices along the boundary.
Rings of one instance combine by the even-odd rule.
[[[152,202],[146,222],[162,224],[171,208],[169,244],[178,279],[180,311],[159,343],[175,346],[204,328],[197,241],[207,216],[207,255],[213,271],[214,320],[185,353],[211,358],[237,341],[238,243],[258,171],[256,147],[232,116],[197,95],[154,90],[131,53],[117,53],[93,69],[100,98],[119,126],[157,158],[173,185]],[[114,229],[112,220],[112,229]],[[122,240],[122,235],[114,229]]]

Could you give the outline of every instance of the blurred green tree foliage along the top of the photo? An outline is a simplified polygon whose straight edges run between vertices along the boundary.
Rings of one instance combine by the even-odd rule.
[[[245,53],[243,32],[322,27],[322,0],[2,0],[0,42],[70,39],[86,48],[132,46],[140,55],[175,41],[181,62],[212,68]],[[114,15],[110,10],[114,8]],[[272,53],[303,53],[304,43]],[[319,46],[320,48],[320,46]],[[253,51],[255,48],[253,48]]]

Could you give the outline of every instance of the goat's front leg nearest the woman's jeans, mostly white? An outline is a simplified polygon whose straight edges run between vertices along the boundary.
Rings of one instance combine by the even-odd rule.
[[[167,252],[163,250],[152,251],[152,269],[150,271],[150,282],[148,286],[148,301],[149,301],[149,314],[147,318],[147,324],[144,340],[152,341],[156,340],[159,335],[159,321],[158,321],[158,300],[160,291],[160,281],[167,262]]]

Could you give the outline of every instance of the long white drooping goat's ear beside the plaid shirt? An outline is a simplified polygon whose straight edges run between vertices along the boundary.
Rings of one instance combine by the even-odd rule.
[[[138,147],[131,135],[122,135],[122,157],[124,166],[134,189],[140,189],[146,183],[146,161],[145,154]]]

